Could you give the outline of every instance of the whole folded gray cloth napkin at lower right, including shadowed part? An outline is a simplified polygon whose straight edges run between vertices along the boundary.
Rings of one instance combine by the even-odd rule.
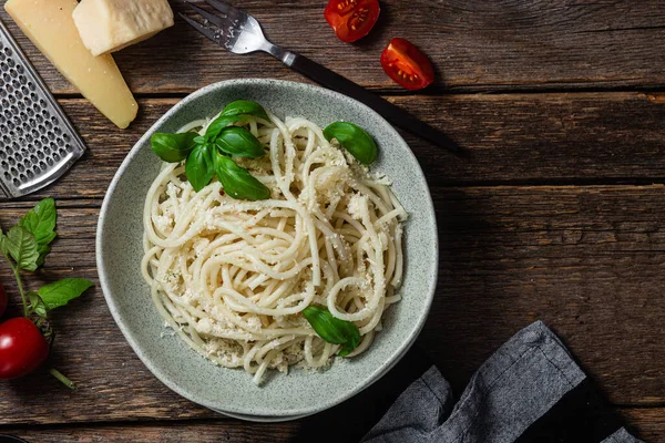
[[[364,443],[640,442],[610,412],[541,321],[518,332],[454,404],[436,367],[416,380]]]

